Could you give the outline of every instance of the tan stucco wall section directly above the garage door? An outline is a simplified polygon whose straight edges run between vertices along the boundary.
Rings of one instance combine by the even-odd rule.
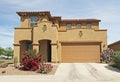
[[[79,32],[82,31],[82,36],[80,37]],[[106,30],[95,31],[92,29],[75,29],[67,30],[67,32],[59,32],[59,41],[73,41],[73,42],[95,42],[101,41],[105,44],[104,49],[107,48],[107,32]]]

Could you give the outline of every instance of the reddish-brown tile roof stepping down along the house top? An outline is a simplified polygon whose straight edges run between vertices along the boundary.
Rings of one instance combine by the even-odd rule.
[[[51,16],[50,11],[22,11],[16,12],[19,16],[38,16],[47,15],[50,19],[59,20],[61,23],[72,23],[72,22],[100,22],[98,19],[61,19],[61,16]]]

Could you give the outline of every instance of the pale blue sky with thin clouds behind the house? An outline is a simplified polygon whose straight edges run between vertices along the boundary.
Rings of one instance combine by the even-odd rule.
[[[63,19],[100,19],[108,30],[108,44],[120,34],[120,0],[0,0],[0,47],[13,47],[14,28],[20,26],[17,11],[50,11]]]

